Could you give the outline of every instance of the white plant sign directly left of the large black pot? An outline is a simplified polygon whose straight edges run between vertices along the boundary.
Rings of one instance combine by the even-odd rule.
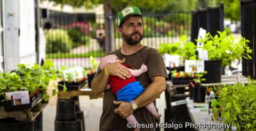
[[[185,60],[185,72],[203,73],[204,60]]]

